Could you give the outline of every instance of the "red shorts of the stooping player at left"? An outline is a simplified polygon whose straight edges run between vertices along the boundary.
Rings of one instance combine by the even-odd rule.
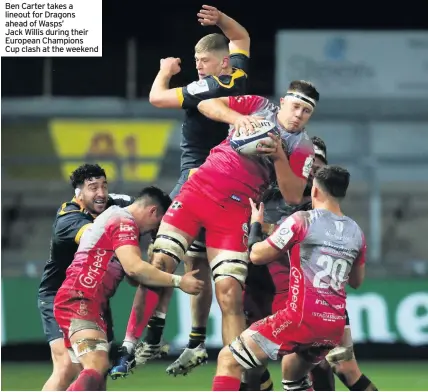
[[[96,329],[107,336],[107,324],[101,317],[104,308],[81,292],[59,289],[54,301],[54,316],[64,335],[65,347],[71,348],[70,336],[83,329]]]

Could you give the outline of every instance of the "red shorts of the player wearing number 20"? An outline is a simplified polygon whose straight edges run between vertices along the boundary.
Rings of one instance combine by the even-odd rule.
[[[273,316],[255,322],[248,331],[273,360],[281,355],[298,352],[307,361],[316,364],[340,343],[344,329],[345,319],[322,321],[309,313],[300,322],[300,316],[296,317],[292,310],[282,309]]]

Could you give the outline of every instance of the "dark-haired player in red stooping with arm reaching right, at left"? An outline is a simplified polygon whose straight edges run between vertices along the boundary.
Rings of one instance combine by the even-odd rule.
[[[189,294],[201,291],[203,282],[194,272],[171,275],[141,260],[140,234],[156,229],[170,204],[159,188],[147,187],[129,207],[103,212],[83,234],[54,301],[64,345],[83,366],[68,390],[106,389],[108,325],[102,315],[125,275],[136,284],[179,287]]]

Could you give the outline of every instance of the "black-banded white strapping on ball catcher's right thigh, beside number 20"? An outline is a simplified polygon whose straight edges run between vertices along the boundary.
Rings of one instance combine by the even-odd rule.
[[[214,282],[234,278],[243,287],[248,273],[248,253],[225,250],[210,262]]]

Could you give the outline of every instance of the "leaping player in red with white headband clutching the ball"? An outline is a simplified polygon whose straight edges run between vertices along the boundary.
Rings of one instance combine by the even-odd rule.
[[[238,154],[228,139],[213,148],[174,199],[154,243],[153,264],[173,272],[199,230],[205,228],[225,344],[245,329],[242,286],[248,263],[248,200],[259,200],[276,178],[286,201],[300,202],[314,156],[304,127],[318,99],[311,83],[294,81],[280,106],[260,96],[215,98],[198,105],[209,118],[236,124],[238,129],[251,128],[253,119],[266,118],[279,135],[272,135],[274,145],[262,147],[258,157]]]

